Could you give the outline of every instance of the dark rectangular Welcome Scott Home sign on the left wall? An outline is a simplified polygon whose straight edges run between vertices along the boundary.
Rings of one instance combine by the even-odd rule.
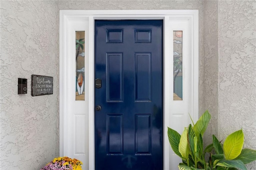
[[[53,77],[43,75],[31,75],[31,95],[52,95]]]

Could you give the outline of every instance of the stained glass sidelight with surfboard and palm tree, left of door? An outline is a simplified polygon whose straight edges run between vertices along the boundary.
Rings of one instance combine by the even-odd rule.
[[[76,31],[76,100],[84,100],[84,31]]]

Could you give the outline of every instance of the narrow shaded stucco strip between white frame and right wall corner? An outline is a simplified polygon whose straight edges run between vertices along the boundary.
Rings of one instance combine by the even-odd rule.
[[[218,135],[218,1],[204,1],[204,111],[209,110],[211,121],[204,134],[204,145],[212,143],[212,134]]]

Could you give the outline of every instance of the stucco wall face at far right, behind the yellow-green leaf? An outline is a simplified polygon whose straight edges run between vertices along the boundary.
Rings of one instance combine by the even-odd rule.
[[[256,2],[218,5],[218,138],[242,128],[244,147],[256,149]]]

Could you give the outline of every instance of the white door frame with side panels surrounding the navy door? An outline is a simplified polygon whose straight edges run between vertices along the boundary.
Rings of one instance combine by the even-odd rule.
[[[82,160],[85,170],[94,170],[96,19],[164,20],[164,170],[169,170],[178,164],[179,158],[170,148],[167,127],[181,133],[190,123],[188,113],[194,121],[198,120],[198,10],[60,10],[60,156]],[[183,101],[173,101],[172,32],[175,30],[184,32]],[[86,34],[85,101],[75,101],[75,31]]]

